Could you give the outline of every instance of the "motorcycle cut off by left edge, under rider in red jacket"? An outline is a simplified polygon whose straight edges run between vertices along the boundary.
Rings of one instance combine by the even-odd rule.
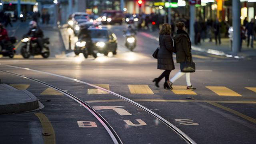
[[[6,41],[5,49],[2,49],[0,54],[3,56],[9,56],[9,58],[13,58],[16,53],[16,48],[13,44],[15,44],[17,39],[15,37],[10,37],[8,41]]]

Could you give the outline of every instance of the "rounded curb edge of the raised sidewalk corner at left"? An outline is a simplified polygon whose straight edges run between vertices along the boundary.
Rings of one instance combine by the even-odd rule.
[[[36,96],[28,92],[27,90],[18,90],[18,91],[30,97],[31,100],[28,100],[27,102],[21,102],[21,103],[17,102],[17,103],[0,105],[0,114],[25,112],[25,111],[37,109],[39,107],[38,99],[36,98]]]

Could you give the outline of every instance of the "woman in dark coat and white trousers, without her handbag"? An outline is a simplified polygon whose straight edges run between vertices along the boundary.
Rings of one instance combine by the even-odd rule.
[[[192,54],[191,54],[191,41],[188,33],[185,31],[186,27],[183,22],[178,22],[176,24],[177,35],[174,37],[175,48],[176,48],[176,61],[177,63],[182,62],[192,62]],[[186,83],[188,90],[196,90],[194,86],[191,85],[190,82],[190,73],[189,72],[178,72],[174,77],[170,79],[170,87],[172,88],[172,84],[181,76],[185,74]]]

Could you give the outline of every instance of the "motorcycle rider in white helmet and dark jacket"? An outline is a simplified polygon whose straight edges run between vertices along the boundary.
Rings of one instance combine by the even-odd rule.
[[[43,51],[44,48],[44,42],[43,42],[43,37],[44,37],[44,32],[37,26],[37,23],[35,21],[31,21],[29,23],[29,31],[26,34],[27,36],[32,35],[33,37],[37,38],[37,43],[40,47],[40,51]]]

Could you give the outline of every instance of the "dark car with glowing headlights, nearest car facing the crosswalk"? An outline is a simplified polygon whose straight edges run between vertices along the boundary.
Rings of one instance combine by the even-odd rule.
[[[108,52],[112,52],[114,55],[117,50],[117,38],[116,35],[111,32],[108,28],[96,27],[89,28],[88,32],[92,38],[92,50],[97,53],[103,53],[105,56],[108,55]],[[81,32],[82,34],[82,32]],[[78,42],[76,42],[74,52],[76,55],[83,53],[84,57],[88,57],[88,50],[86,49],[86,40],[82,36],[79,37]]]

